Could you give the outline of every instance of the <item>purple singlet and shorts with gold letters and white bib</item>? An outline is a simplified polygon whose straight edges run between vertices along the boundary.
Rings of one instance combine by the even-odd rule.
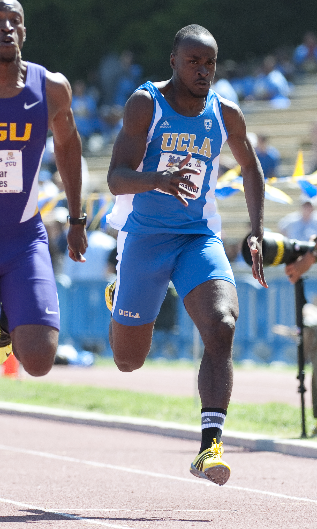
[[[0,99],[0,301],[9,332],[60,329],[59,300],[37,197],[48,126],[46,70],[27,63],[25,87]]]

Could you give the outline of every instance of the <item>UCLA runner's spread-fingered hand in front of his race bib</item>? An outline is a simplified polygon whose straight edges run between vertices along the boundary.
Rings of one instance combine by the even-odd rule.
[[[200,175],[200,172],[196,169],[188,169],[188,167],[185,167],[190,161],[190,158],[191,152],[187,154],[184,160],[181,160],[179,163],[175,163],[174,166],[169,167],[166,171],[157,172],[157,188],[165,191],[166,193],[174,195],[179,200],[179,202],[181,202],[186,207],[188,206],[188,202],[183,196],[181,196],[180,193],[191,198],[195,198],[195,195],[190,193],[190,191],[187,191],[187,189],[184,189],[184,187],[180,188],[179,184],[185,184],[186,181],[190,181],[191,186],[196,188],[197,185],[192,180],[186,180],[184,175],[186,175],[188,172],[193,175]]]

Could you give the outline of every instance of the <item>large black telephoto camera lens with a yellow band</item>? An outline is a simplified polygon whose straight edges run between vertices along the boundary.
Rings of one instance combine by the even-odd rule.
[[[242,255],[245,262],[252,266],[252,256],[247,241],[249,235],[243,241]],[[297,257],[303,256],[314,248],[315,242],[313,241],[296,241],[296,239],[284,237],[281,233],[265,231],[262,242],[263,266],[277,266],[282,263],[289,265],[296,261]]]

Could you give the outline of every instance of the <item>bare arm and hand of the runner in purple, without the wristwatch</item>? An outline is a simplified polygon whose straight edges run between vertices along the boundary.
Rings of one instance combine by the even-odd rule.
[[[61,175],[71,217],[81,217],[81,140],[71,109],[72,90],[62,74],[46,72],[49,127],[53,132],[56,166]],[[84,226],[70,225],[67,235],[69,256],[84,262],[88,246]]]

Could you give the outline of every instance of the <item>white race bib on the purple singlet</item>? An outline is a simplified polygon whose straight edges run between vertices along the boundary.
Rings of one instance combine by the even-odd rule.
[[[0,193],[21,193],[22,189],[22,152],[0,151]]]

